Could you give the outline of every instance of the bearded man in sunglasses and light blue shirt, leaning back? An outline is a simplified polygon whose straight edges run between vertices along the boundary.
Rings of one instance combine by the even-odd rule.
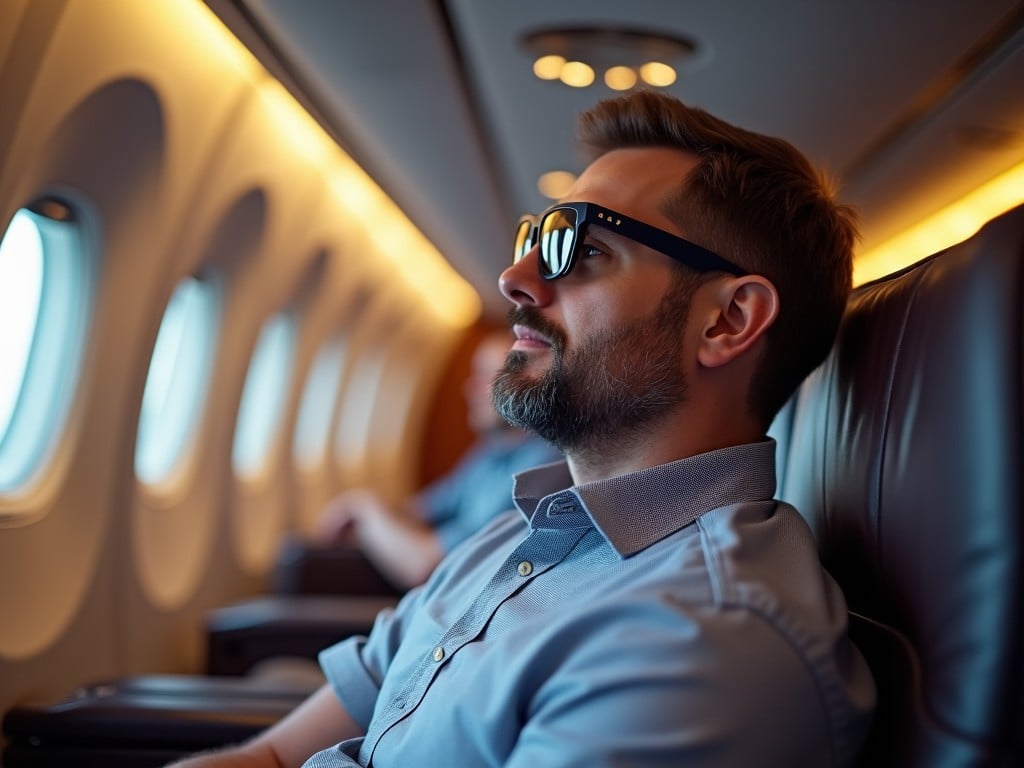
[[[851,764],[873,685],[810,531],[772,501],[764,436],[833,341],[849,214],[788,144],[667,96],[581,127],[593,161],[502,275],[516,342],[495,383],[566,462],[518,475],[518,518],[325,651],[330,686],[241,754]]]

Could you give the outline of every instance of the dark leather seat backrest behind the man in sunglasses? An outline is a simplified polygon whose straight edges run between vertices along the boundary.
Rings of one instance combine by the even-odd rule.
[[[879,686],[861,765],[1024,765],[1024,208],[855,290],[775,425]]]

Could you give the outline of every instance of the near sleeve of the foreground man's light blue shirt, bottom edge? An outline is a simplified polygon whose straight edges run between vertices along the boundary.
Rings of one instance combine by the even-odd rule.
[[[649,618],[604,616],[562,654],[506,768],[833,765],[815,678],[763,618],[718,610],[660,638]]]

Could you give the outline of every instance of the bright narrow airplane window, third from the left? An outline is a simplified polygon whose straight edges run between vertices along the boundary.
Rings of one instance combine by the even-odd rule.
[[[251,477],[266,461],[284,415],[294,355],[295,319],[280,312],[263,325],[246,374],[231,451],[240,475]]]

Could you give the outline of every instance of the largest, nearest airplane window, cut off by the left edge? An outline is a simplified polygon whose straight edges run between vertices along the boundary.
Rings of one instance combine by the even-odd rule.
[[[42,465],[71,404],[91,270],[71,208],[19,209],[0,241],[0,493]]]

